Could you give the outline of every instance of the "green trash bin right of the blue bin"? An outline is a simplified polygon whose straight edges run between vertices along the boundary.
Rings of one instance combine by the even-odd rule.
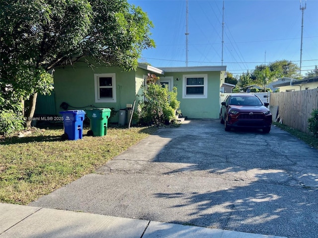
[[[109,108],[85,109],[89,119],[90,130],[87,135],[104,136],[107,134],[107,123],[111,110]]]

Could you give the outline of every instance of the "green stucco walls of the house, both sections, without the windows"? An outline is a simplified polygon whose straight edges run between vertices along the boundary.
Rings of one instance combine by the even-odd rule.
[[[95,102],[96,73],[115,73],[116,75],[116,102]],[[58,68],[54,72],[54,87],[56,112],[64,111],[60,108],[62,102],[68,103],[79,110],[93,105],[97,108],[114,108],[115,111],[126,108],[126,104],[133,104],[136,108],[139,100],[143,100],[142,85],[148,70],[138,68],[137,71],[126,72],[119,67],[98,66],[91,68],[86,63],[77,63],[73,66]],[[207,74],[207,98],[182,98],[183,75]],[[186,71],[165,72],[161,77],[172,77],[173,86],[177,88],[180,110],[183,116],[189,119],[218,119],[220,109],[220,71]],[[70,107],[69,110],[74,108]],[[111,120],[118,121],[118,113]]]

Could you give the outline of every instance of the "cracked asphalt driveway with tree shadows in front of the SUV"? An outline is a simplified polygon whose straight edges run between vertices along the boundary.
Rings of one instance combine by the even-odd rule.
[[[162,128],[31,206],[290,238],[318,237],[318,150],[272,127]]]

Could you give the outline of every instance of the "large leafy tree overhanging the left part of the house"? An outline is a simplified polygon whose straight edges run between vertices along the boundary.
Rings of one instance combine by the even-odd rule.
[[[1,0],[0,27],[0,101],[8,92],[15,104],[27,100],[27,127],[55,67],[90,57],[131,70],[155,46],[152,22],[127,0]]]

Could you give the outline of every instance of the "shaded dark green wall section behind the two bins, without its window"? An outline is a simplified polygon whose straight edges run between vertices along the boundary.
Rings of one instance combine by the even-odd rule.
[[[116,102],[95,102],[94,74],[96,73],[115,73]],[[91,68],[86,63],[77,63],[73,66],[58,68],[54,72],[54,87],[57,114],[64,111],[60,108],[62,102],[66,102],[78,110],[93,105],[97,108],[114,108],[115,111],[118,111],[126,108],[127,103],[133,104],[136,98],[135,71],[126,72],[119,67]],[[72,107],[68,110],[76,110]],[[112,121],[118,121],[118,113]]]

